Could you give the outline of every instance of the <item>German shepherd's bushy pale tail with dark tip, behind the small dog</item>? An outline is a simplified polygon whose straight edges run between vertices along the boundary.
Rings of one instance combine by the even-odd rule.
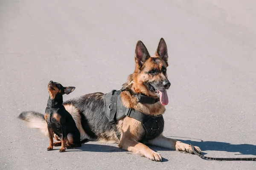
[[[26,121],[27,127],[40,129],[45,136],[49,136],[47,122],[43,114],[35,111],[23,111],[17,118]]]

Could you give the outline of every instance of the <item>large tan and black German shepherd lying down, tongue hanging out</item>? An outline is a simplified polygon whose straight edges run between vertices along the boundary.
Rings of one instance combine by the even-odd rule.
[[[130,74],[128,81],[122,85],[122,88],[128,89],[121,92],[122,103],[126,108],[133,108],[146,115],[162,115],[166,111],[164,106],[168,104],[166,90],[171,85],[166,74],[167,61],[167,46],[163,38],[160,39],[156,53],[153,56],[149,55],[143,42],[137,42],[134,73]],[[135,94],[144,94],[160,99],[160,101],[154,104],[142,104],[137,101]],[[121,134],[121,137],[120,140],[117,138],[106,116],[103,93],[98,92],[79,96],[67,100],[63,105],[73,116],[79,129],[81,140],[87,138],[100,142],[117,143],[118,147],[123,150],[137,153],[153,161],[162,161],[159,153],[138,142],[145,136],[145,130],[140,121],[129,116],[120,119],[116,124],[116,129]],[[43,114],[26,111],[21,113],[19,118],[28,122],[29,127],[40,128],[44,134],[48,135],[47,123]],[[167,138],[163,134],[148,141],[148,144],[193,153],[189,144]],[[201,153],[199,147],[195,147],[195,150]]]

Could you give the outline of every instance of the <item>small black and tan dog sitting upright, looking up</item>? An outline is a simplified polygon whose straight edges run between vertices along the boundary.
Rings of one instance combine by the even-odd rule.
[[[70,94],[75,87],[63,87],[58,82],[48,83],[49,99],[44,119],[47,122],[50,144],[47,150],[60,146],[60,152],[67,148],[80,147],[80,132],[71,114],[64,108],[63,94]],[[61,141],[53,143],[53,133],[61,137]],[[55,139],[58,139],[55,137]]]

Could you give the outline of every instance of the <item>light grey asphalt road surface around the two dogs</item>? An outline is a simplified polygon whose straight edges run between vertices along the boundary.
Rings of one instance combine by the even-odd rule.
[[[163,37],[172,82],[164,134],[206,156],[256,157],[255,21],[254,0],[1,0],[0,169],[255,170],[158,147],[163,162],[98,142],[47,151],[47,137],[16,118],[44,113],[49,80],[76,87],[64,99],[119,89],[136,42],[152,55]]]

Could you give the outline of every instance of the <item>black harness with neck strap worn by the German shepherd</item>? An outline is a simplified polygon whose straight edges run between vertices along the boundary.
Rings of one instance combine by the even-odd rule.
[[[112,90],[111,93],[104,94],[104,104],[106,115],[108,117],[109,123],[112,125],[117,138],[120,140],[121,134],[116,128],[116,123],[119,119],[125,116],[132,117],[143,124],[145,130],[145,136],[143,137],[143,143],[147,143],[149,140],[156,138],[161,133],[163,133],[164,120],[162,115],[145,115],[144,113],[135,110],[134,108],[125,108],[122,104],[121,91],[123,90]],[[159,99],[154,99],[142,94],[137,94],[137,100],[141,103],[153,104],[159,101]]]

